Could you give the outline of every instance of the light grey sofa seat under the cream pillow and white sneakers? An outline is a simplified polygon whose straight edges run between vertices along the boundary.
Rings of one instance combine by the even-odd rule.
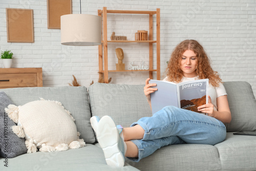
[[[105,162],[101,148],[87,144],[78,149],[64,152],[24,154],[8,159],[8,167],[4,166],[4,159],[0,158],[0,170],[113,170]],[[2,164],[3,163],[3,164]],[[128,164],[115,170],[138,170]]]

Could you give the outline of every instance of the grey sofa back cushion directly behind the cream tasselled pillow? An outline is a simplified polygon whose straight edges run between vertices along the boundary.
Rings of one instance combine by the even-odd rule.
[[[74,117],[80,138],[87,143],[94,143],[95,137],[90,123],[91,112],[86,87],[39,87],[3,89],[15,105],[24,105],[40,97],[60,101]]]

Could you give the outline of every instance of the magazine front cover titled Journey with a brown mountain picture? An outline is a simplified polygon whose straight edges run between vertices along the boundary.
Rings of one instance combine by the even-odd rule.
[[[179,108],[198,113],[198,106],[208,103],[209,79],[178,83]]]

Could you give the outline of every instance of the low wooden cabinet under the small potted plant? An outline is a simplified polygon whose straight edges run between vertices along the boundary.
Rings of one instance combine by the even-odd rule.
[[[42,68],[0,68],[0,89],[42,87]]]

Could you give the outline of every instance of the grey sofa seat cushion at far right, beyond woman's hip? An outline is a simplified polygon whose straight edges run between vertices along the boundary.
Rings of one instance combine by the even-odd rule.
[[[256,137],[227,133],[218,148],[222,170],[256,170]]]

